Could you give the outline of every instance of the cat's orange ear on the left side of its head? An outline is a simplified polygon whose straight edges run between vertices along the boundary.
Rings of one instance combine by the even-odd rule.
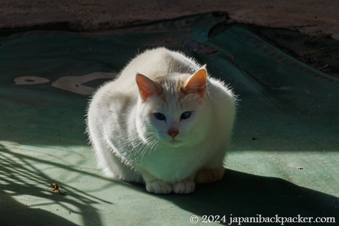
[[[149,96],[157,95],[160,93],[160,88],[152,79],[142,74],[137,74],[136,81],[139,88],[140,97],[143,101]]]

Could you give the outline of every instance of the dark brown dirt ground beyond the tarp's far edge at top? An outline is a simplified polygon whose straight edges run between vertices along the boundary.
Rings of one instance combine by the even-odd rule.
[[[226,11],[229,22],[288,28],[307,34],[331,33],[339,40],[335,0],[1,0],[0,29],[65,26],[93,30]]]

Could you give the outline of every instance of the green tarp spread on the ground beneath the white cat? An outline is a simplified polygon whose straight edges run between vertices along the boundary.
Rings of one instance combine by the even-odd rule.
[[[209,37],[224,20],[207,13],[96,32],[1,31],[1,225],[172,226],[194,216],[195,225],[339,224],[339,80],[240,26]],[[206,63],[240,99],[224,179],[189,195],[105,178],[84,134],[94,88],[155,46]],[[45,191],[53,183],[61,193]]]

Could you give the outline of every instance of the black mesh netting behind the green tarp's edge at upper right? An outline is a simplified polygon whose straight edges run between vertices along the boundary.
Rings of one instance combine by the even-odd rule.
[[[225,22],[219,23],[210,30],[209,36],[215,36],[232,26]],[[332,39],[330,33],[319,32],[317,35],[308,35],[282,28],[250,24],[241,24],[241,26],[266,38],[269,42],[314,68],[339,76],[339,41]]]

